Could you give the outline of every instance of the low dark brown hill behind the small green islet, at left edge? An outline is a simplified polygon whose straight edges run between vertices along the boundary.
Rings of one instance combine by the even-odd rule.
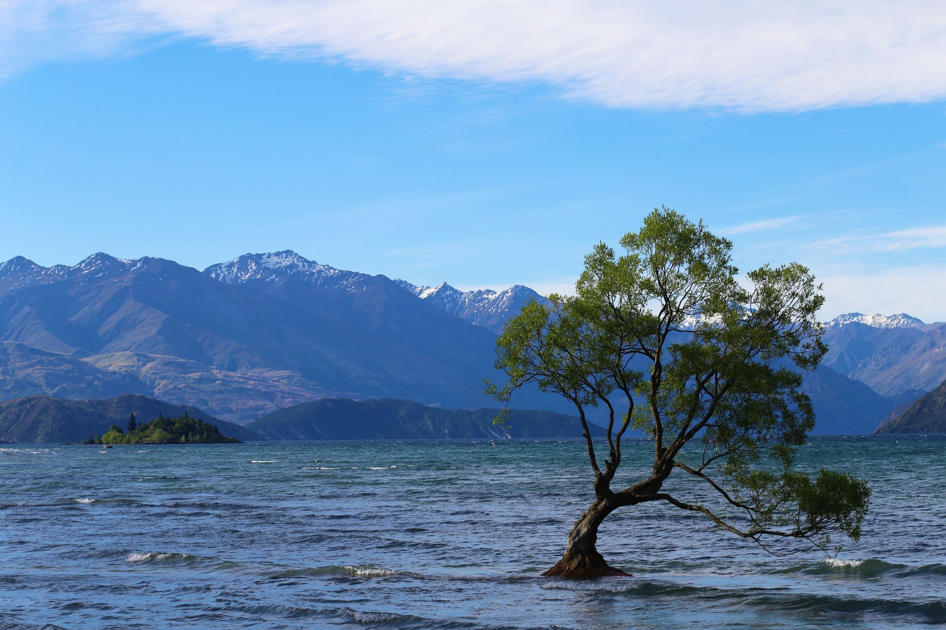
[[[221,434],[241,440],[259,439],[258,434],[219,420],[196,407],[123,394],[108,400],[63,400],[51,396],[4,400],[0,402],[0,440],[80,442],[89,434],[104,434],[112,424],[125,429],[132,413],[139,423],[148,422],[159,414],[178,417],[186,413],[217,426]]]

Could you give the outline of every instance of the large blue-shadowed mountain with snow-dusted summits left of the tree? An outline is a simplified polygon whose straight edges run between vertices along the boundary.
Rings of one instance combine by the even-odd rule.
[[[323,397],[480,407],[495,345],[384,276],[292,252],[203,273],[106,254],[72,267],[13,259],[0,264],[0,339],[18,344],[0,356],[11,395],[145,393],[244,421]]]

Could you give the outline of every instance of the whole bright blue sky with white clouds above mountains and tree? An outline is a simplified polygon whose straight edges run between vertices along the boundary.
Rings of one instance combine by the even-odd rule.
[[[704,66],[698,47],[609,48],[585,14],[505,40],[422,0],[396,37],[394,17],[295,15],[293,0],[144,4],[0,5],[0,258],[203,268],[291,248],[417,284],[549,292],[666,204],[731,238],[743,268],[810,265],[826,316],[946,319],[946,41],[898,52],[881,9],[869,41],[854,29],[830,59],[756,67],[741,30]],[[917,24],[946,24],[932,7]],[[778,24],[803,46],[810,17]],[[727,22],[686,27],[703,50],[728,45]],[[520,41],[543,28],[576,52]]]

